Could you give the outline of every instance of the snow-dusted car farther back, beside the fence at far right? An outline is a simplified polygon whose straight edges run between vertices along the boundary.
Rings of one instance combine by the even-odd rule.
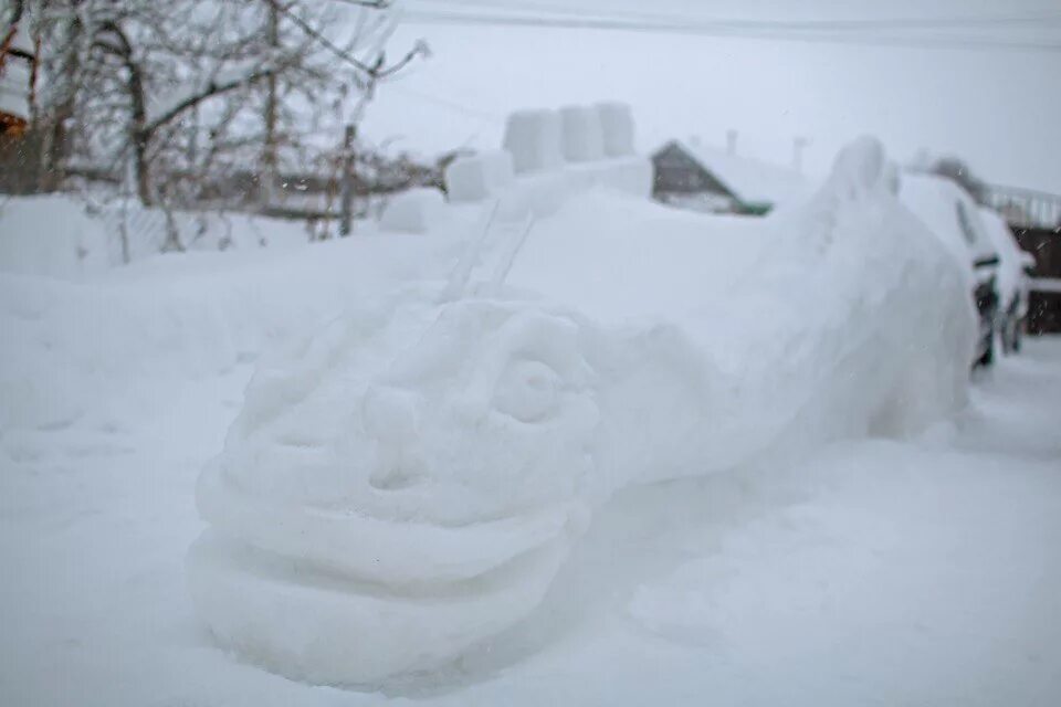
[[[998,251],[999,303],[995,330],[1002,352],[1012,354],[1020,350],[1021,327],[1028,315],[1028,274],[1036,258],[1020,249],[1000,213],[981,208],[980,219]]]

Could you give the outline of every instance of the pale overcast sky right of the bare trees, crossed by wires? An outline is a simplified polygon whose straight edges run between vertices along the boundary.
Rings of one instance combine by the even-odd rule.
[[[550,6],[601,13],[705,19],[834,20],[1015,17],[1055,13],[1061,0],[802,2],[744,0],[407,0],[408,11],[492,13]],[[626,15],[626,17],[629,17]],[[939,35],[947,30],[922,30]],[[949,30],[953,35],[1052,42],[1061,21]],[[894,33],[894,32],[892,32]],[[989,181],[1061,193],[1061,51],[942,50],[690,36],[606,30],[454,27],[407,21],[395,52],[418,38],[434,55],[384,86],[369,109],[375,141],[434,152],[500,144],[518,107],[622,99],[639,143],[671,137],[723,144],[787,163],[807,136],[809,171],[823,171],[857,135],[881,137],[900,160],[921,147],[967,158]]]

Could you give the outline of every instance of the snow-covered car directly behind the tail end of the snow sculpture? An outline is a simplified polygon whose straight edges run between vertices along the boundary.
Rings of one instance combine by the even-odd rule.
[[[954,181],[918,172],[902,176],[900,200],[968,270],[980,320],[974,365],[990,366],[1000,299],[999,254],[980,218],[980,208]]]

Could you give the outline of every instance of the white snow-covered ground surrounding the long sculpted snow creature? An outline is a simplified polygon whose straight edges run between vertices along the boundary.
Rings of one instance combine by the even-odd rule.
[[[217,647],[183,563],[251,360],[382,283],[441,277],[458,246],[366,236],[2,276],[0,703],[1054,704],[1057,339],[915,439],[621,492],[526,621],[431,679],[312,687]]]

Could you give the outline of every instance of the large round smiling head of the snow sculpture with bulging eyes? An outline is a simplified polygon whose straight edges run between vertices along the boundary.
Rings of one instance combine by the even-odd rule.
[[[406,303],[263,361],[197,489],[212,632],[294,677],[370,683],[533,609],[588,517],[589,329],[534,302]]]

